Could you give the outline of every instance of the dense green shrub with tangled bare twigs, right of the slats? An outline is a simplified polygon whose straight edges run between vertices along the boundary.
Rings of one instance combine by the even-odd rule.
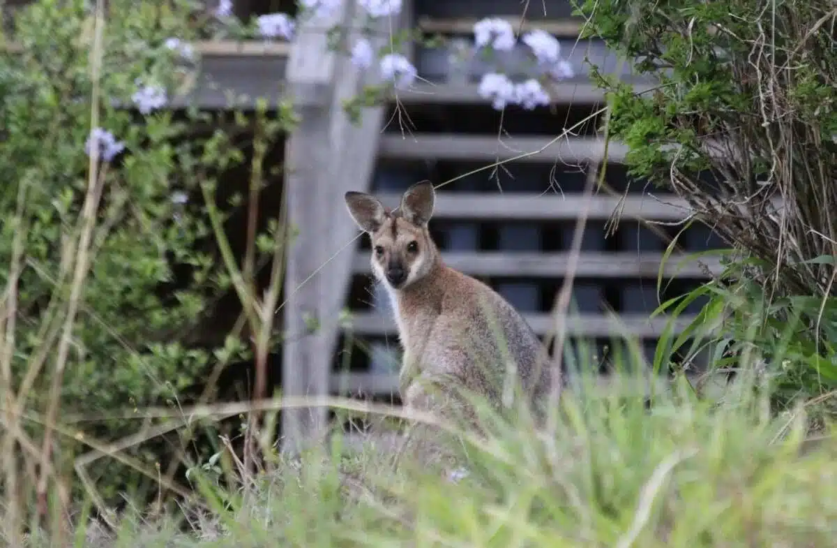
[[[781,405],[837,388],[833,3],[608,0],[578,10],[588,35],[655,84],[638,93],[594,71],[629,173],[674,190],[742,252],[699,290],[711,297],[699,321],[726,319],[714,364],[757,356],[747,364],[783,385]]]

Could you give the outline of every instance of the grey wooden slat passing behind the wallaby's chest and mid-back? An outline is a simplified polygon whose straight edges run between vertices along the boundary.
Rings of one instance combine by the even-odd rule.
[[[550,313],[528,313],[523,318],[538,335],[554,332],[556,318]],[[670,318],[660,316],[649,318],[649,314],[625,313],[616,317],[604,314],[570,314],[567,319],[567,334],[573,337],[618,337],[628,336],[639,339],[659,337],[671,322]],[[673,323],[675,333],[680,333],[686,325],[696,318],[692,314],[683,314]],[[354,313],[352,332],[361,335],[394,335],[397,333],[393,318],[388,314],[367,312]]]

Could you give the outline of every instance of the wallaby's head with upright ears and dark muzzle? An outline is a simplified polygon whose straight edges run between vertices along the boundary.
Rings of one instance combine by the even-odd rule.
[[[347,192],[346,204],[357,226],[372,238],[372,271],[393,289],[427,276],[439,258],[427,224],[436,193],[429,181],[413,184],[389,211],[370,194]]]

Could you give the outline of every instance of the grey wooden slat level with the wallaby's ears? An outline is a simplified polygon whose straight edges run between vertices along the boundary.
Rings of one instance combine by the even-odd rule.
[[[446,193],[439,190],[434,219],[456,220],[575,220],[585,209],[585,199],[578,194],[478,194]],[[379,194],[383,204],[398,206],[401,194]],[[587,206],[590,220],[608,220],[619,210],[624,219],[651,219],[675,221],[685,219],[691,213],[686,200],[661,194],[608,196],[599,194]]]

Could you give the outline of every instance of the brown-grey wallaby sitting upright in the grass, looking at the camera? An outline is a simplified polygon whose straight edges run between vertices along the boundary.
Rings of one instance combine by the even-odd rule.
[[[509,302],[444,265],[428,230],[433,184],[413,184],[394,211],[370,194],[347,192],[345,198],[352,218],[371,237],[372,272],[395,311],[404,405],[434,411],[438,402],[425,390],[429,381],[443,391],[459,385],[496,407],[508,405],[509,390],[519,386],[542,406],[560,372],[552,370],[547,349]]]

